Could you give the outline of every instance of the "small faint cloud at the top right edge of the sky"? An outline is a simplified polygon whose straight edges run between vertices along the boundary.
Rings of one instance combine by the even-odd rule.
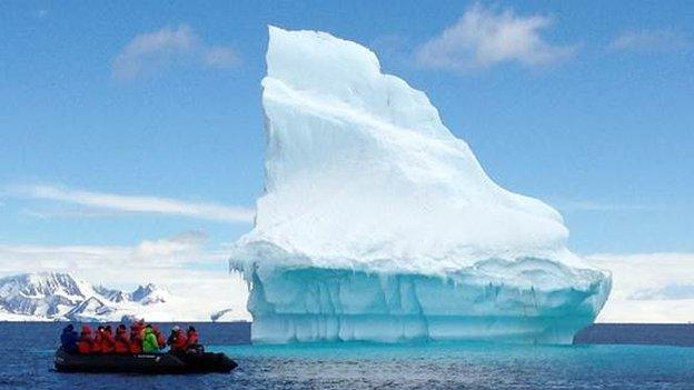
[[[614,50],[641,52],[678,51],[691,46],[690,38],[674,29],[623,31],[609,44]]]

